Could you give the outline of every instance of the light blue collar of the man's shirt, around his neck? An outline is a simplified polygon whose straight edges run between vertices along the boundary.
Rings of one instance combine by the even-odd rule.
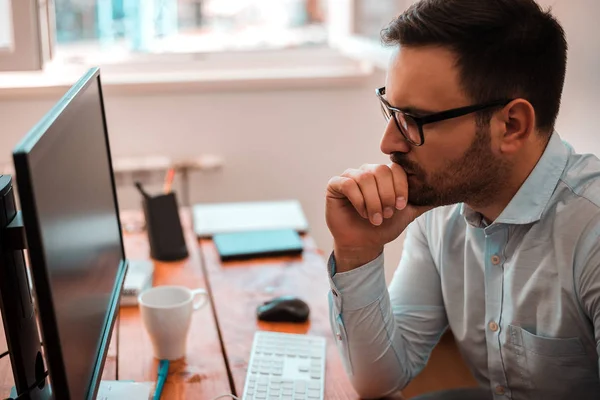
[[[494,224],[529,224],[538,221],[564,172],[569,152],[558,133],[553,132],[537,165]],[[480,213],[464,203],[460,210],[469,224],[485,227]]]

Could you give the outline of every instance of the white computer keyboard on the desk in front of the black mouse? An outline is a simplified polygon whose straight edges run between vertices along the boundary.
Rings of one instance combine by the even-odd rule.
[[[243,400],[323,400],[324,337],[254,334]]]

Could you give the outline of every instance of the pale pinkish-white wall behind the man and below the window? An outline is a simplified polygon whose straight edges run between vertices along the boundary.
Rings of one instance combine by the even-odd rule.
[[[595,21],[600,2],[552,3],[570,44],[557,129],[578,151],[600,155],[600,32]],[[328,179],[347,167],[387,160],[379,154],[384,123],[374,96],[383,81],[380,73],[345,89],[109,96],[113,153],[222,155],[222,171],[192,177],[193,201],[300,199],[314,237],[328,252],[331,239],[323,217]],[[10,160],[14,144],[53,101],[0,102],[0,162]],[[121,190],[119,197],[124,207],[138,206],[131,189]],[[400,252],[400,240],[387,246],[388,276]]]

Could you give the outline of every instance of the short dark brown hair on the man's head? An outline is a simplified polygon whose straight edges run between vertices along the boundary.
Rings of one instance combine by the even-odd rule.
[[[535,1],[421,0],[381,37],[387,45],[448,48],[457,56],[461,85],[473,101],[526,99],[535,109],[538,130],[554,129],[567,42],[558,21]]]

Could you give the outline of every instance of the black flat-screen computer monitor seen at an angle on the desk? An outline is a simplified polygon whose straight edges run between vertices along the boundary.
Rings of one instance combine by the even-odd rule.
[[[13,159],[53,397],[95,399],[127,271],[97,68]]]

